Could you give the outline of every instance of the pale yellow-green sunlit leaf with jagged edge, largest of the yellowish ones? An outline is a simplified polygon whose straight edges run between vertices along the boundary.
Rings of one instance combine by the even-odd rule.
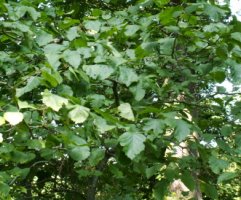
[[[54,111],[58,112],[60,108],[63,107],[63,105],[68,104],[68,99],[65,99],[63,97],[60,97],[56,94],[50,93],[48,90],[45,90],[42,92],[43,96],[43,103],[47,106],[52,108]]]

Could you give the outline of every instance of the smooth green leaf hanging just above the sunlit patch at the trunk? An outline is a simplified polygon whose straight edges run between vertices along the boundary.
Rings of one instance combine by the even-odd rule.
[[[176,120],[176,128],[174,137],[179,141],[183,141],[190,134],[190,125],[183,120]]]

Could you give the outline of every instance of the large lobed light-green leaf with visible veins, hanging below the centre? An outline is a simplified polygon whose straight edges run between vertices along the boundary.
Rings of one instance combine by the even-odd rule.
[[[123,146],[124,152],[133,160],[140,152],[145,149],[144,142],[146,137],[140,133],[125,132],[119,137],[120,145]]]

